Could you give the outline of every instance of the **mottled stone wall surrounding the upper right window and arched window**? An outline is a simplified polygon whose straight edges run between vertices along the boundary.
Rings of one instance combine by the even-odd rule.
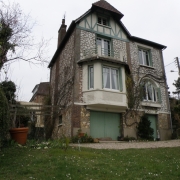
[[[142,45],[143,46],[143,45]],[[132,74],[135,82],[145,77],[154,80],[161,90],[161,107],[158,108],[160,112],[168,112],[168,102],[166,98],[166,80],[162,67],[162,58],[160,50],[151,47],[153,67],[144,67],[139,64],[138,45],[137,43],[130,42],[130,55]],[[139,77],[139,78],[138,78]]]

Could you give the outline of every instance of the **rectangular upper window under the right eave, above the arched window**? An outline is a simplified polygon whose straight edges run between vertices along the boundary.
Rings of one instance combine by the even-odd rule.
[[[145,66],[152,66],[149,50],[139,49],[139,63]]]

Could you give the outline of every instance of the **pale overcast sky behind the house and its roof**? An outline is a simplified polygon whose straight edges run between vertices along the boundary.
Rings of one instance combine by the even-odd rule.
[[[4,0],[6,2],[6,0]],[[57,48],[58,30],[65,15],[67,28],[96,0],[9,0],[20,4],[25,14],[30,14],[37,22],[33,29],[34,37],[49,40],[47,57],[49,62]],[[180,1],[179,0],[107,0],[124,17],[121,19],[132,36],[147,39],[167,46],[163,51],[169,91],[175,91],[172,85],[178,78],[175,57],[180,58]],[[2,70],[0,81],[5,76],[17,85],[17,100],[29,101],[36,84],[49,81],[48,64],[30,65],[17,61],[11,64],[7,75]],[[175,72],[170,72],[171,70]]]

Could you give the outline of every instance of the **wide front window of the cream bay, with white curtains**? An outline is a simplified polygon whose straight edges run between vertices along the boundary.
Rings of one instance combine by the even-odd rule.
[[[111,67],[103,67],[103,88],[119,89],[119,71]]]

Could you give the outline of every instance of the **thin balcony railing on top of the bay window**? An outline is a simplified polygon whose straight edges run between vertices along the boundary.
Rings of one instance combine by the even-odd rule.
[[[86,49],[83,52],[83,57],[91,57],[91,56],[104,56],[104,57],[111,57],[111,58],[115,58],[115,59],[119,59],[121,61],[123,61],[123,58],[121,58],[120,52],[117,53],[115,51],[112,51],[110,49],[104,49],[101,47],[97,47],[97,48],[91,48],[91,49]]]

